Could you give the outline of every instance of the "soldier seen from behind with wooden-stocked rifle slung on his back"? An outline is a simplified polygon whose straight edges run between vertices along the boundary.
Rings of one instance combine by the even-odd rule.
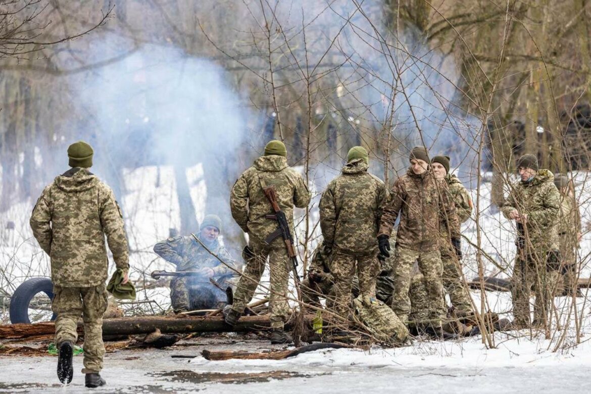
[[[269,310],[271,314],[271,342],[289,343],[291,338],[284,333],[284,323],[290,314],[287,304],[288,266],[291,265],[284,240],[277,237],[270,244],[265,238],[278,229],[275,220],[267,219],[272,214],[271,203],[263,188],[273,185],[277,202],[285,213],[293,233],[293,208],[305,208],[310,203],[310,192],[304,179],[287,165],[287,150],[281,141],[271,141],[265,146],[265,155],[255,160],[238,178],[230,192],[232,217],[249,235],[245,248],[246,268],[234,295],[231,308],[225,308],[224,318],[230,325],[236,324],[246,304],[252,299],[261,280],[267,257],[271,275]]]

